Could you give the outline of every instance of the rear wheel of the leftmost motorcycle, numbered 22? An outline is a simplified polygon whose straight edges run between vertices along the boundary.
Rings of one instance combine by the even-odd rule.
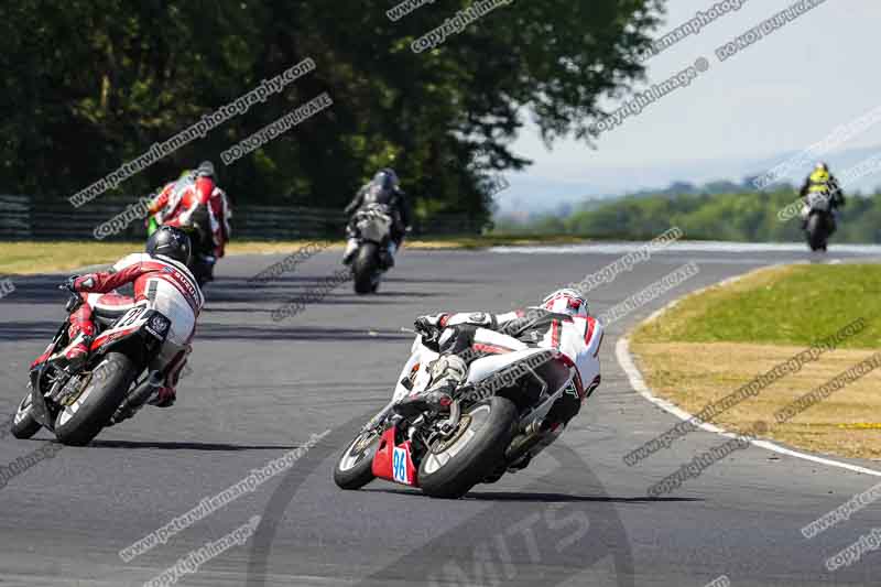
[[[85,446],[110,421],[138,373],[121,352],[109,352],[95,368],[86,389],[55,418],[55,436],[63,444]]]

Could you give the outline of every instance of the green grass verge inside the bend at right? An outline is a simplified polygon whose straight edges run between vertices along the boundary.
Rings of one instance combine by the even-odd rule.
[[[867,327],[841,346],[881,346],[881,265],[791,265],[688,296],[633,339],[808,346],[859,317]]]

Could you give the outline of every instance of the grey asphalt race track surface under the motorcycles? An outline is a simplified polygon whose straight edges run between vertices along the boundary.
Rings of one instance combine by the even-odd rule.
[[[254,515],[261,522],[247,543],[176,584],[700,587],[725,575],[735,586],[877,585],[878,553],[835,573],[824,568],[828,556],[881,526],[877,506],[813,540],[800,532],[877,478],[749,447],[671,494],[646,497],[650,485],[722,442],[706,432],[633,467],[622,461],[677,421],[631,389],[614,359],[617,338],[689,290],[807,260],[801,247],[671,249],[591,292],[599,314],[687,261],[700,268],[609,326],[602,387],[527,470],[459,501],[382,481],[360,491],[336,488],[336,455],[388,401],[407,355],[411,336],[400,327],[423,313],[532,303],[622,252],[608,246],[559,254],[404,251],[379,295],[359,297],[344,284],[281,323],[272,322],[272,309],[333,274],[338,253],[320,253],[262,285],[247,279],[281,256],[224,260],[206,289],[193,372],[177,404],[146,409],[88,447],[63,447],[0,489],[0,586],[143,585]],[[878,258],[872,250],[829,254],[844,262]],[[58,282],[19,278],[17,291],[0,301],[3,420],[24,392],[28,365],[63,318]],[[323,433],[254,491],[130,563],[119,556],[203,498]],[[0,465],[50,442],[45,432],[32,441],[7,435]]]

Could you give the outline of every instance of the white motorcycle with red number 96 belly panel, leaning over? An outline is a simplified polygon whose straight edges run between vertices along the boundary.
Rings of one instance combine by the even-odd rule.
[[[424,333],[423,333],[424,334]],[[563,393],[575,393],[575,367],[555,350],[527,348],[471,362],[448,413],[398,414],[394,405],[429,383],[438,354],[417,334],[394,395],[342,450],[334,480],[359,489],[376,478],[456,499],[496,482],[541,437],[530,434]]]

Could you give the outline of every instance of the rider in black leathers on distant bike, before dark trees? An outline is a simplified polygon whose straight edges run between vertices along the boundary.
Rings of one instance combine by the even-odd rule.
[[[413,211],[406,194],[401,189],[398,174],[391,167],[385,167],[377,172],[373,178],[361,186],[344,213],[349,216],[349,224],[346,226],[348,243],[342,253],[342,263],[349,264],[355,251],[358,250],[358,239],[352,222],[354,216],[362,207],[371,204],[384,204],[389,207],[392,216],[391,242],[389,242],[389,254],[385,264],[388,268],[394,267],[394,253],[401,248],[404,235],[411,229],[413,224]]]

